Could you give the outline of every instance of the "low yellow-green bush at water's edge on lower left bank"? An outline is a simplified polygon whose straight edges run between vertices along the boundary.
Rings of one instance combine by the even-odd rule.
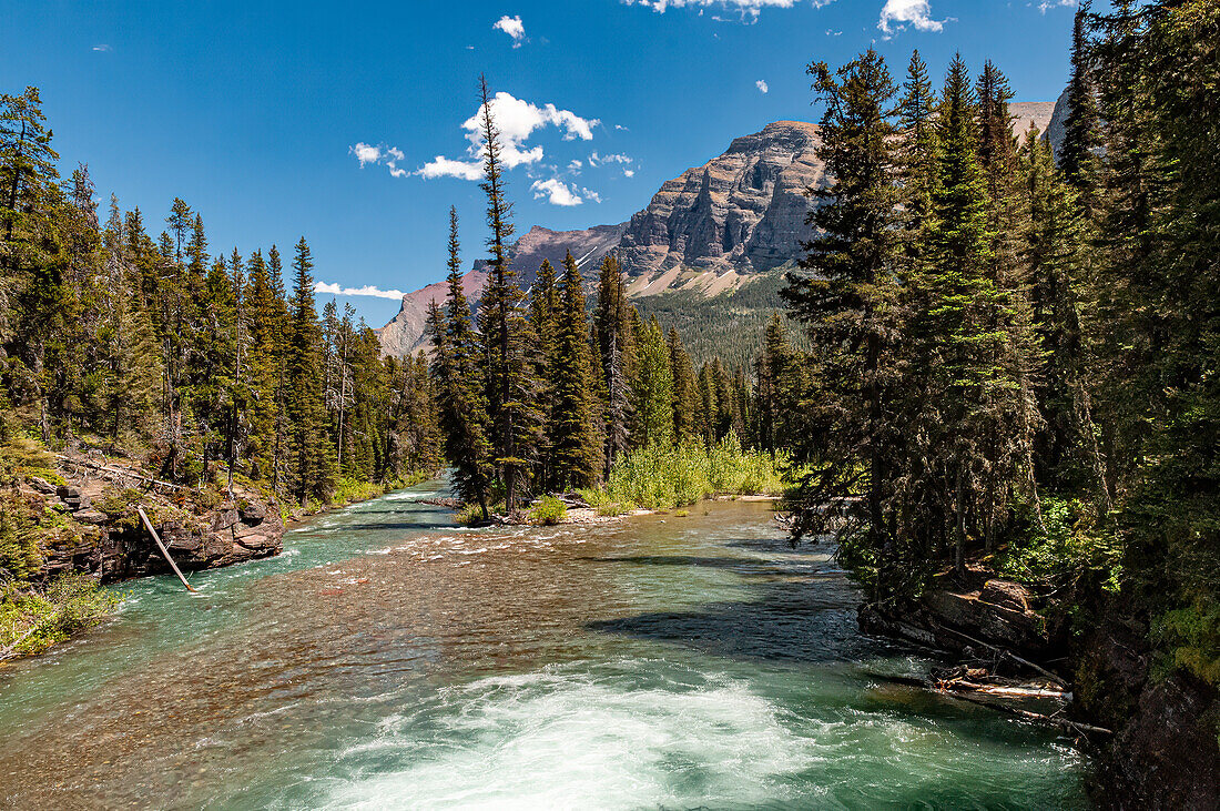
[[[45,590],[0,590],[0,652],[32,656],[96,626],[121,601],[87,574],[63,574]]]

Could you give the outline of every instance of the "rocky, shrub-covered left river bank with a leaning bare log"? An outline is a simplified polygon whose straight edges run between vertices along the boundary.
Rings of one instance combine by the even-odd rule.
[[[276,556],[290,526],[390,491],[344,481],[329,504],[283,510],[240,477],[223,490],[187,488],[151,477],[132,460],[99,452],[43,460],[46,467],[15,479],[9,498],[27,516],[30,551],[26,579],[0,590],[0,663],[43,654],[104,622],[120,600],[99,585],[171,572],[139,510],[173,563],[192,574]]]

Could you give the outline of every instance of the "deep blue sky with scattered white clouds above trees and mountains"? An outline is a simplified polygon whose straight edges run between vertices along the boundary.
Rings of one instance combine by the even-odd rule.
[[[810,60],[875,45],[994,60],[1055,99],[1072,0],[6,0],[0,91],[43,91],[65,173],[87,162],[157,223],[182,196],[214,251],[301,234],[317,277],[411,290],[484,229],[462,128],[486,72],[518,162],[518,233],[621,222],[660,184],[782,118],[815,121]],[[444,160],[437,160],[438,157]],[[578,163],[577,163],[578,162]],[[578,201],[578,202],[577,202]],[[155,234],[154,234],[155,237]],[[398,310],[355,296],[370,323]]]

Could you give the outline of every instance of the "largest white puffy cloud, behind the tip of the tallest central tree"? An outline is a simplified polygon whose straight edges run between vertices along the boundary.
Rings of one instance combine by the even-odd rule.
[[[497,93],[489,102],[492,117],[500,133],[500,159],[505,168],[514,168],[521,165],[538,163],[543,159],[542,146],[525,145],[525,141],[538,129],[556,127],[562,130],[564,140],[593,140],[593,128],[601,122],[597,118],[582,118],[571,110],[560,110],[553,104],[542,106],[531,104],[522,99],[516,99],[510,93]],[[482,106],[478,111],[462,123],[466,130],[466,140],[470,146],[466,149],[465,160],[454,160],[437,156],[423,167],[416,171],[426,178],[456,177],[466,180],[477,180],[483,174],[483,159],[487,155],[487,145],[482,135]]]

